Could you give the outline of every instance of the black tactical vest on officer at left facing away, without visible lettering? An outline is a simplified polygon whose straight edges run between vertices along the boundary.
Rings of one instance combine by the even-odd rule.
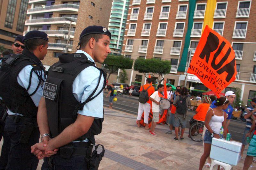
[[[2,60],[2,67],[0,69],[0,96],[3,98],[3,102],[13,113],[19,113],[26,117],[36,117],[37,107],[30,96],[36,93],[41,80],[44,81],[42,77],[39,77],[41,80],[33,93],[28,94],[28,89],[31,85],[33,70],[42,70],[41,62],[37,59],[40,62],[38,63],[33,58],[24,54],[5,56]],[[31,70],[31,74],[28,75],[30,76],[28,89],[25,89],[19,85],[17,77],[20,71],[27,65],[31,65],[33,69]]]

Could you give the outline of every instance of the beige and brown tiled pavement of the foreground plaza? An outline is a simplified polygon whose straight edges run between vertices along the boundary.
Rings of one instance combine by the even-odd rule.
[[[104,108],[102,133],[95,137],[96,143],[105,147],[99,169],[198,169],[203,153],[202,143],[188,138],[188,129],[183,141],[175,141],[174,134],[164,133],[167,130],[167,125],[156,125],[158,136],[154,137],[148,130],[137,128],[135,115]],[[241,170],[243,164],[244,161],[240,161],[233,169]],[[37,169],[41,169],[41,165],[42,161]]]

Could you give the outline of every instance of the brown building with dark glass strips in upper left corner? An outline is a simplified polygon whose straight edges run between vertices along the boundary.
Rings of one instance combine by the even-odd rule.
[[[28,0],[0,0],[0,45],[4,48],[12,49],[15,37],[27,29],[28,8]]]

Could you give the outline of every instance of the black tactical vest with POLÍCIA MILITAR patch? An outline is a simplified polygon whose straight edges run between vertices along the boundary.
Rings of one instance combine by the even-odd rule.
[[[89,66],[95,67],[95,65],[93,62],[88,60],[86,55],[83,53],[63,54],[59,56],[59,60],[59,62],[53,64],[49,68],[43,90],[43,96],[45,97],[47,108],[48,123],[53,137],[56,137],[66,127],[74,123],[77,111],[83,110],[84,104],[100,94],[106,85],[106,74],[103,70],[98,68],[100,70],[100,77],[97,87],[85,102],[79,103],[72,92],[73,82],[82,70]],[[92,97],[99,86],[102,74],[104,77],[104,85],[101,91]],[[102,122],[103,118],[94,119],[88,132],[82,137],[76,139],[76,141],[88,138],[92,144],[95,144],[94,135],[101,133]]]

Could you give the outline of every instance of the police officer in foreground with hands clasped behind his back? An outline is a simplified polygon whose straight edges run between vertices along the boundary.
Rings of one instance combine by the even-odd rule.
[[[97,169],[90,164],[94,135],[101,133],[103,89],[106,74],[96,67],[110,53],[111,33],[102,26],[88,26],[80,35],[79,50],[59,56],[49,68],[37,121],[42,143],[31,151],[42,159],[59,148],[42,169]],[[93,145],[91,145],[93,144]],[[47,167],[49,166],[49,167]]]

